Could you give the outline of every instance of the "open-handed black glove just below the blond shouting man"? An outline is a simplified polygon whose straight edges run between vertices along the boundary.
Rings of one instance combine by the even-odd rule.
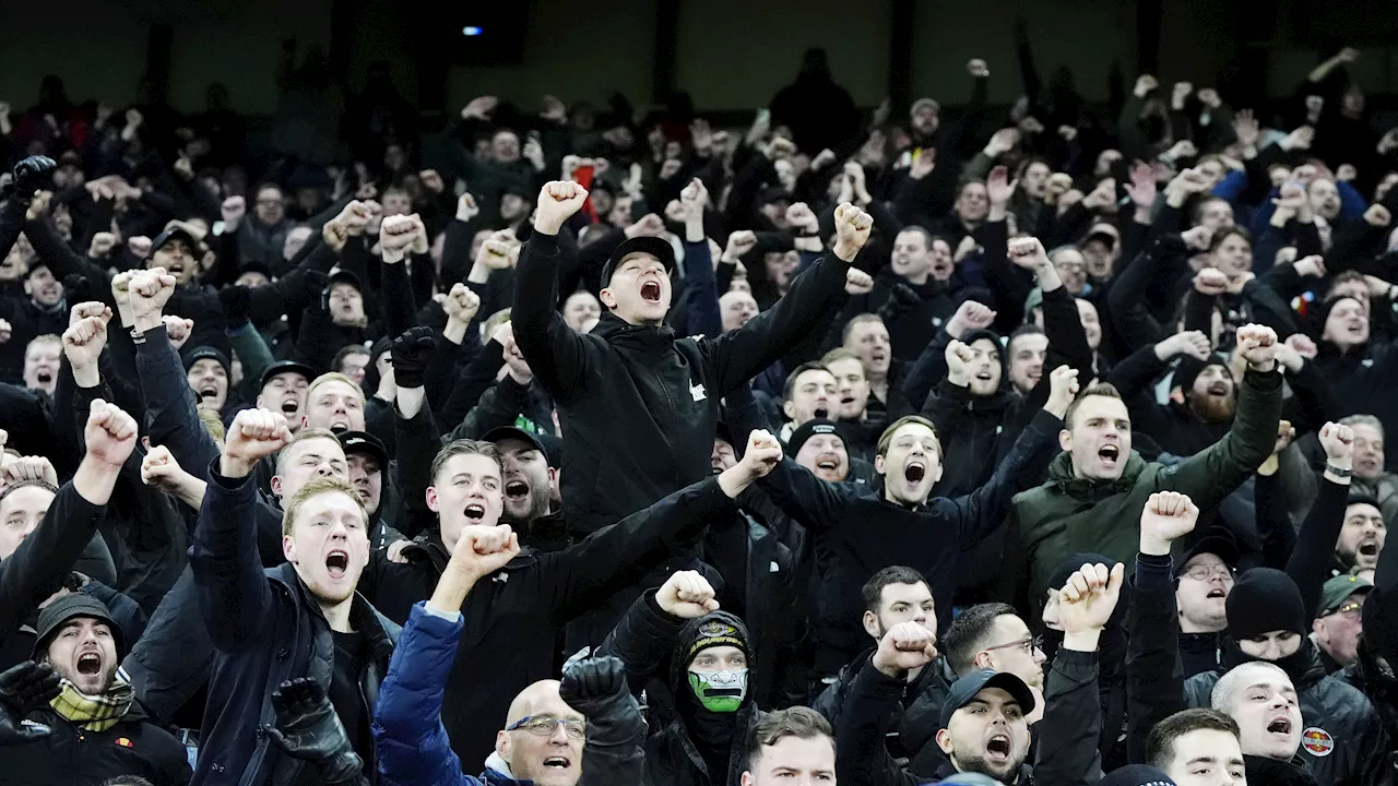
[[[282,683],[271,692],[271,708],[277,724],[263,731],[281,752],[315,765],[324,783],[365,783],[363,764],[319,683],[309,677]]]

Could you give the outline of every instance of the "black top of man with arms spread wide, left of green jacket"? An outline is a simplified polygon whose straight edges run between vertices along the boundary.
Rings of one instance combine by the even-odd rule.
[[[840,571],[822,582],[823,604],[816,641],[828,650],[816,667],[835,673],[865,646],[858,625],[864,582],[889,565],[909,565],[927,576],[937,600],[937,628],[952,618],[956,565],[977,541],[1009,515],[1011,498],[1030,488],[1058,452],[1062,421],[1039,411],[986,484],[956,499],[934,496],[907,509],[884,499],[882,488],[825,483],[791,459],[759,481],[772,499],[835,555]],[[944,462],[955,457],[944,456]],[[945,533],[928,537],[927,533]]]

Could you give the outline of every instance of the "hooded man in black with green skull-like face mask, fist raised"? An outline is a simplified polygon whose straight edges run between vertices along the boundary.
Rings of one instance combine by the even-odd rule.
[[[646,783],[737,786],[744,745],[761,719],[749,670],[755,666],[748,628],[719,611],[713,586],[681,571],[640,597],[603,643],[600,655],[626,664],[626,683],[639,694],[670,659],[672,703],[668,723],[646,740]],[[657,698],[651,696],[651,722]]]

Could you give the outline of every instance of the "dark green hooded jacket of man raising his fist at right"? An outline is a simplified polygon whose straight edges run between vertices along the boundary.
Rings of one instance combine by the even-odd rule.
[[[1233,427],[1179,464],[1146,462],[1132,450],[1121,477],[1102,481],[1074,477],[1072,455],[1060,455],[1048,467],[1047,483],[1015,495],[1002,596],[1037,604],[1053,572],[1079,551],[1106,554],[1131,571],[1141,541],[1141,510],[1151,494],[1179,491],[1199,509],[1216,506],[1272,455],[1281,410],[1281,373],[1248,371]]]

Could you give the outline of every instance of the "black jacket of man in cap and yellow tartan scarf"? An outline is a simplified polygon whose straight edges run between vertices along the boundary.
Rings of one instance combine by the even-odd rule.
[[[53,733],[27,745],[0,748],[7,785],[88,786],[117,775],[141,776],[155,786],[189,783],[189,751],[147,720],[136,703],[105,731],[80,729],[48,708],[29,719]]]

